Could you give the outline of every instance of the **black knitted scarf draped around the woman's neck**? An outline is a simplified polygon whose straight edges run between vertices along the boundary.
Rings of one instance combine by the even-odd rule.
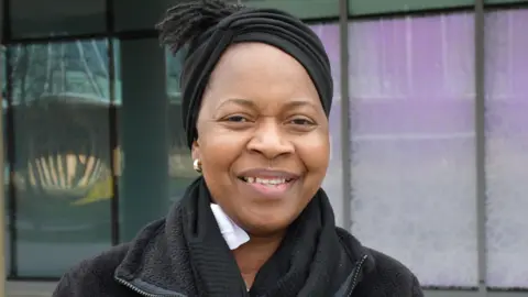
[[[198,296],[248,296],[210,202],[206,183],[198,178],[183,198],[176,221],[168,223],[183,230]],[[250,296],[332,296],[351,270],[340,254],[333,211],[320,189],[256,275]]]

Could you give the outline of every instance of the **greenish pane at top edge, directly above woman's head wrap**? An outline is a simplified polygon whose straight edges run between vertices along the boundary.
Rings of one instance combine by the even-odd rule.
[[[339,15],[339,0],[245,0],[254,8],[276,8],[300,19],[321,19]]]

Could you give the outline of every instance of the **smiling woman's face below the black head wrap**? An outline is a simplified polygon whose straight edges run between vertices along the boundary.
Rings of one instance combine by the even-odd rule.
[[[308,73],[261,43],[231,46],[211,74],[197,123],[215,201],[252,235],[282,232],[321,186],[328,119]]]

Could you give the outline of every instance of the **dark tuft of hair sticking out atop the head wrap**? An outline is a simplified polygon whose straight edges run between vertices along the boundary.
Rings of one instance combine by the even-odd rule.
[[[200,33],[243,8],[241,4],[230,4],[222,0],[178,0],[156,25],[160,42],[176,54]]]

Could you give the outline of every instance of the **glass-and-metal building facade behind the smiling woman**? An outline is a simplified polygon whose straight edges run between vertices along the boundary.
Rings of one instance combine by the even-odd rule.
[[[130,240],[196,177],[182,57],[153,29],[172,2],[2,1],[11,279]],[[528,1],[239,2],[300,16],[327,48],[338,224],[428,296],[528,296]]]

